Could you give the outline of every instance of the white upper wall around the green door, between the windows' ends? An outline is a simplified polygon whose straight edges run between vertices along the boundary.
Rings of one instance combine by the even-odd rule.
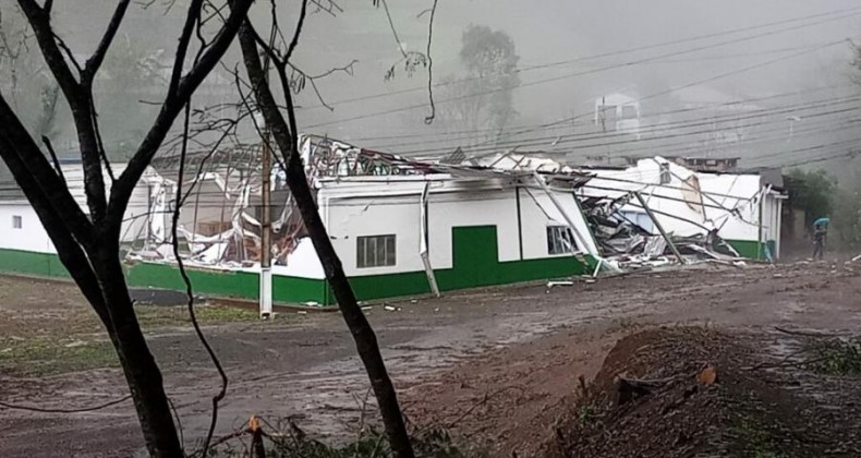
[[[323,183],[318,194],[322,216],[348,276],[424,269],[420,250],[421,195],[425,182],[424,178],[399,178],[371,181],[342,179]],[[518,192],[513,183],[463,182],[445,178],[429,182],[427,226],[433,268],[453,267],[452,228],[457,227],[495,226],[499,262],[555,256],[548,254],[547,227],[567,226],[567,221],[549,196],[536,185],[519,191],[519,221]],[[557,192],[556,195],[586,240],[586,246],[579,248],[595,253],[594,240],[573,193]],[[396,265],[357,268],[355,239],[386,234],[396,236]]]

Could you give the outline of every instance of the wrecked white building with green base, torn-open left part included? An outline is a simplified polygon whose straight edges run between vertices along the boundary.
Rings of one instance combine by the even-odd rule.
[[[597,245],[575,194],[589,174],[417,162],[315,136],[301,138],[301,152],[320,216],[360,300],[562,278],[594,268]],[[186,159],[189,192],[177,229],[198,293],[259,297],[259,157],[257,146]],[[170,243],[175,160],[154,161],[130,207],[124,245],[132,286],[183,288]],[[278,167],[271,190],[272,299],[334,303]],[[20,222],[25,212],[15,208],[0,204],[9,226],[0,267],[68,275],[44,231],[38,243],[27,242],[33,232],[20,229],[34,222],[28,216]]]

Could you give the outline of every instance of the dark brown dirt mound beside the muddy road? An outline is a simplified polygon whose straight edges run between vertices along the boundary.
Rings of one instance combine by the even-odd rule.
[[[781,353],[790,343],[702,328],[629,336],[543,455],[861,456],[861,379],[809,371],[803,347]]]

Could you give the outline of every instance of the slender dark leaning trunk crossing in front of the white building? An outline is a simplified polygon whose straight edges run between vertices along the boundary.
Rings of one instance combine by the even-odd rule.
[[[301,22],[293,44],[296,43],[300,32]],[[302,158],[296,150],[298,133],[295,126],[295,112],[293,110],[291,89],[286,75],[287,59],[290,57],[290,51],[288,51],[284,60],[279,61],[277,56],[271,52],[271,49],[267,50],[270,58],[275,58],[272,60],[279,72],[282,91],[284,92],[287,113],[290,122],[288,126],[288,122],[281,114],[275,97],[272,96],[272,92],[268,86],[266,74],[260,63],[260,56],[257,50],[254,29],[246,21],[240,29],[239,40],[242,47],[245,69],[248,73],[257,100],[257,107],[263,112],[266,124],[271,129],[278,148],[284,156],[287,183],[302,214],[305,228],[314,243],[314,249],[317,251],[320,264],[323,264],[323,268],[326,272],[326,279],[338,301],[341,315],[347,326],[350,328],[350,333],[353,335],[356,351],[371,379],[371,386],[374,389],[374,395],[379,405],[379,412],[383,417],[383,423],[386,427],[386,434],[389,438],[392,455],[396,458],[413,458],[414,453],[412,444],[410,444],[409,434],[407,433],[403,414],[398,403],[398,396],[395,391],[395,385],[386,370],[383,354],[379,351],[377,337],[367,317],[359,306],[350,281],[347,279],[347,275],[343,272],[341,261],[335,252],[331,240],[329,240],[329,234],[317,210],[314,194],[308,186]]]

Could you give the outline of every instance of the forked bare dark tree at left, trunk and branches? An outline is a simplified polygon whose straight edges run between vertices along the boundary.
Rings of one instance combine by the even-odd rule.
[[[155,457],[180,457],[183,450],[165,393],[161,373],[144,339],[120,262],[120,232],[132,192],[177,117],[194,92],[221,60],[245,20],[252,0],[232,0],[222,11],[223,23],[207,33],[202,25],[204,0],[191,0],[185,21],[178,31],[167,94],[158,116],[134,149],[126,168],[114,177],[101,144],[93,86],[131,0],[120,0],[93,55],[83,63],[54,31],[53,1],[19,0],[47,68],[71,109],[84,171],[87,210],[70,193],[59,164],[52,165],[22,123],[7,94],[0,96],[0,158],[33,205],[60,261],[108,332],[129,384],[144,439]],[[83,4],[81,8],[84,7]],[[229,12],[228,12],[229,11]],[[197,37],[197,56],[186,58]],[[206,38],[208,37],[208,38]],[[189,69],[184,71],[184,69]],[[106,171],[110,188],[106,185]]]

